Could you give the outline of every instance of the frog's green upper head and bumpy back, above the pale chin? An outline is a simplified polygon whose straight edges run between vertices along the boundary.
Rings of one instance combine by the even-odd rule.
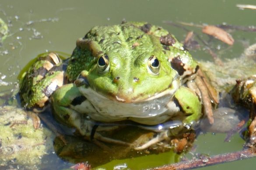
[[[70,62],[83,69],[75,83],[118,102],[172,96],[179,88],[179,75],[160,42],[168,32],[146,32],[139,24],[94,27],[77,40]]]

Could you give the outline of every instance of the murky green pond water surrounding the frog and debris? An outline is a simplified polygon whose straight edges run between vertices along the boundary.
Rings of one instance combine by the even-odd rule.
[[[164,27],[179,40],[186,31],[165,24],[163,21],[183,21],[195,24],[256,25],[256,10],[240,10],[238,3],[255,4],[255,0],[1,0],[0,18],[9,22],[10,36],[0,47],[0,76],[9,85],[1,86],[1,92],[11,91],[17,82],[21,69],[38,54],[46,51],[62,51],[71,54],[77,38],[83,37],[95,25],[119,24],[122,20],[147,21]],[[200,34],[200,28],[187,27]],[[215,47],[222,49],[220,58],[239,57],[245,46],[256,42],[255,32],[235,31],[231,33],[235,44],[229,47],[220,41]],[[202,36],[208,39],[206,35]],[[197,59],[212,60],[205,51],[192,51]],[[254,73],[255,74],[255,73]],[[200,135],[195,151],[187,153],[191,158],[195,153],[215,155],[242,149],[244,140],[236,134],[230,142],[224,143],[225,134]],[[53,155],[51,155],[53,156]],[[53,156],[53,159],[57,159]],[[103,165],[113,169],[116,165],[127,164],[130,169],[156,167],[172,163],[177,157],[172,153],[142,156],[133,159],[115,160]],[[256,158],[225,163],[203,169],[249,169]],[[65,162],[60,163],[65,164]],[[56,165],[53,165],[55,167]],[[67,167],[70,164],[67,163]],[[65,167],[65,166],[61,166]]]

